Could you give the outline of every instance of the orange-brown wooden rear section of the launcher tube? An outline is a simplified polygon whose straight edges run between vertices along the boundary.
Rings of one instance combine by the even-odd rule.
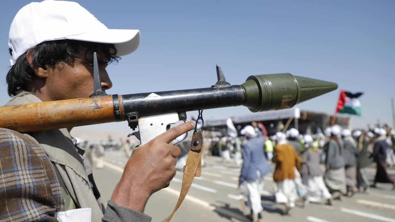
[[[112,96],[0,107],[0,128],[36,132],[115,122]]]

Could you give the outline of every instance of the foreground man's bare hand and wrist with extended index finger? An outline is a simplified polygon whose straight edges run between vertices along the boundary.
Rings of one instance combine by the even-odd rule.
[[[181,151],[169,143],[194,127],[194,122],[185,122],[135,149],[111,200],[122,207],[143,212],[151,194],[169,186],[176,174],[176,158]]]

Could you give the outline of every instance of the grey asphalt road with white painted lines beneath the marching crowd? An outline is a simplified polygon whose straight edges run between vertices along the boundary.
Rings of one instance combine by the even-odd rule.
[[[105,167],[94,169],[94,178],[102,194],[104,202],[111,198],[113,188],[122,174],[127,158],[121,151],[109,151],[105,155]],[[194,183],[181,207],[173,217],[173,222],[217,222],[249,220],[242,212],[237,190],[240,168],[233,162],[224,163],[221,158],[205,157],[202,177],[195,177]],[[369,167],[369,180],[375,174],[374,166]],[[395,170],[389,173],[395,177]],[[163,189],[149,199],[145,213],[152,216],[152,221],[162,221],[174,208],[181,189],[182,172]],[[369,194],[357,193],[352,198],[344,197],[342,201],[334,201],[333,206],[310,203],[305,208],[302,203],[292,210],[291,215],[282,215],[284,206],[275,203],[273,198],[274,183],[271,175],[265,177],[265,195],[262,196],[264,221],[385,221],[395,222],[395,191],[391,184],[378,184],[371,188]],[[249,210],[247,209],[249,212]]]

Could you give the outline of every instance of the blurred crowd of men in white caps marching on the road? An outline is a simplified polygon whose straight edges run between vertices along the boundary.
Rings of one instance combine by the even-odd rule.
[[[233,157],[242,166],[239,189],[254,221],[262,218],[263,177],[273,171],[270,162],[275,164],[275,199],[284,204],[284,214],[290,214],[295,201],[303,201],[303,206],[309,202],[333,205],[334,199],[341,200],[344,195],[369,193],[376,183],[391,183],[395,189],[386,169],[395,164],[395,130],[350,131],[335,125],[324,133],[301,135],[291,128],[265,137],[257,127],[248,125],[241,130],[243,137],[213,137],[206,143],[213,155],[224,161]],[[373,162],[377,170],[370,184],[366,167]]]

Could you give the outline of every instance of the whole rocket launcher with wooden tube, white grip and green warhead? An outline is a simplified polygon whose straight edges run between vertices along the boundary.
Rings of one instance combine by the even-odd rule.
[[[290,73],[252,75],[241,85],[230,85],[216,68],[218,81],[208,88],[107,95],[100,86],[94,53],[90,98],[0,107],[0,127],[24,133],[126,120],[132,129],[139,126],[134,135],[144,144],[170,124],[186,120],[187,111],[239,105],[252,112],[287,109],[337,89],[336,83]]]

